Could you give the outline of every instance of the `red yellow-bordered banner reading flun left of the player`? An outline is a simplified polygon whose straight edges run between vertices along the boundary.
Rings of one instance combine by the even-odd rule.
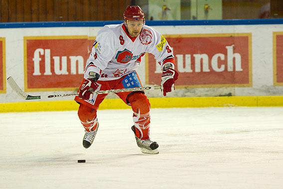
[[[24,37],[25,91],[76,90],[94,37]]]

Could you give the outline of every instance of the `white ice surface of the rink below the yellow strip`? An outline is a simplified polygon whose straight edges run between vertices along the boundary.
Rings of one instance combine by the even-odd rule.
[[[151,109],[154,155],[130,109],[98,121],[84,149],[76,111],[0,113],[0,188],[283,188],[283,107]]]

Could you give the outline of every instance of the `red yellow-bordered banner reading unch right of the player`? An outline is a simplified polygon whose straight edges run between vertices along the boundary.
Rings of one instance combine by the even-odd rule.
[[[252,34],[181,34],[165,36],[175,55],[175,86],[252,86]],[[147,58],[148,84],[160,84],[161,68]]]

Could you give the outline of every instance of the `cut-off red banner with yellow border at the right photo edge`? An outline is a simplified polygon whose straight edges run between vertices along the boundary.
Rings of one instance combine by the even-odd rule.
[[[283,32],[273,32],[274,85],[283,86]]]

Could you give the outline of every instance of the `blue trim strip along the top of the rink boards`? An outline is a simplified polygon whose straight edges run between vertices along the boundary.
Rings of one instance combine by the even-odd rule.
[[[46,21],[46,22],[3,22],[0,28],[22,27],[97,27],[106,24],[119,24],[114,21]],[[258,25],[283,24],[283,18],[278,19],[219,19],[219,20],[147,20],[147,25]]]

